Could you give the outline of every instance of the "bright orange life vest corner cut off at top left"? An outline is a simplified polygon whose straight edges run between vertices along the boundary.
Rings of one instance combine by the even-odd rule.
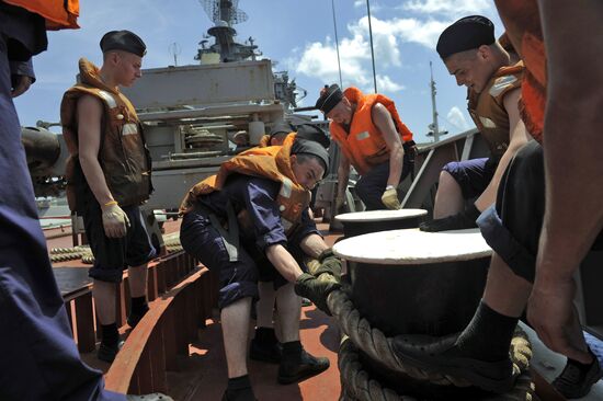
[[[39,14],[46,20],[46,28],[52,31],[78,28],[80,14],[79,0],[3,0],[8,4],[21,7]]]

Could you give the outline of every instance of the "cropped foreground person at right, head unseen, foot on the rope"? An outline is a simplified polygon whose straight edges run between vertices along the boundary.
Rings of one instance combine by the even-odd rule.
[[[431,344],[399,337],[395,350],[406,362],[503,392],[513,385],[509,347],[527,306],[541,340],[568,357],[553,385],[568,399],[581,398],[603,377],[572,303],[576,271],[591,248],[603,245],[603,115],[595,111],[603,104],[603,8],[536,0],[497,7],[525,62],[522,119],[536,140],[513,158],[496,205],[478,219],[494,254],[471,322]]]

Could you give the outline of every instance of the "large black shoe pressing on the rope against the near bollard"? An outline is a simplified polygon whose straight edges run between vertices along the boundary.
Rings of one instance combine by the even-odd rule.
[[[444,337],[399,335],[394,339],[394,351],[402,363],[425,371],[442,373],[465,379],[483,390],[503,393],[514,382],[511,359],[487,362],[468,356],[455,346],[458,334]]]

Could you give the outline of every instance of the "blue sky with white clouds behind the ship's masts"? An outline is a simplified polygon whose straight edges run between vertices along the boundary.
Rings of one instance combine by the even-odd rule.
[[[377,91],[396,102],[402,122],[425,142],[432,122],[430,61],[436,82],[439,123],[450,134],[473,128],[466,89],[457,87],[435,51],[440,33],[459,18],[481,14],[502,24],[491,0],[369,0]],[[203,0],[201,0],[203,2]],[[198,0],[80,0],[80,30],[50,32],[48,50],[34,58],[36,82],[15,105],[23,126],[58,122],[60,99],[78,72],[78,59],[100,65],[105,32],[130,30],[147,44],[143,68],[195,65],[198,42],[213,26]],[[314,105],[326,83],[339,83],[337,33],[343,85],[372,93],[373,69],[366,0],[239,0],[248,20],[235,25],[237,42],[253,37],[275,71],[307,90],[299,106]],[[173,46],[172,44],[177,44]],[[57,131],[57,129],[54,129]]]

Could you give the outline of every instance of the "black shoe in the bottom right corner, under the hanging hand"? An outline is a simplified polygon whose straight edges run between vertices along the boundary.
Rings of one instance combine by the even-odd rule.
[[[603,369],[596,356],[593,356],[593,363],[588,370],[581,369],[568,359],[564,371],[553,380],[553,386],[567,399],[582,398],[601,377],[603,377]]]

